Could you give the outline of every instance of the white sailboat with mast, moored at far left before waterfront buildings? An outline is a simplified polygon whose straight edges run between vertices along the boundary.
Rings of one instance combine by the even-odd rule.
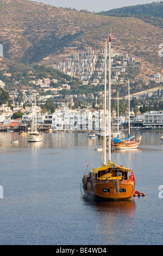
[[[32,131],[28,133],[28,142],[41,142],[42,135],[37,131],[37,121],[36,121],[36,98],[35,98],[35,125],[33,130],[33,120],[32,120]]]

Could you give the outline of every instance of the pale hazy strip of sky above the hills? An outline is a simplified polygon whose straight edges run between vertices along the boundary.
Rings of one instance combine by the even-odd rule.
[[[76,10],[88,10],[88,11],[106,11],[114,8],[120,8],[129,5],[147,4],[152,2],[158,2],[155,0],[30,0],[33,2],[40,2],[55,7],[63,8],[75,8]]]

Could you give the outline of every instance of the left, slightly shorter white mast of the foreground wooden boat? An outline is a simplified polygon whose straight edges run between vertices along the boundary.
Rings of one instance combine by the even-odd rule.
[[[107,40],[105,39],[105,77],[104,77],[104,159],[103,164],[106,164],[106,51]]]

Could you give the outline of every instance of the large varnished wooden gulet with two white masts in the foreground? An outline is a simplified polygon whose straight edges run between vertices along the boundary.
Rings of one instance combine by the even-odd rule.
[[[104,86],[104,150],[102,166],[86,170],[82,186],[85,196],[102,200],[131,200],[135,188],[135,177],[130,169],[111,162],[111,72],[110,72],[110,35],[109,35],[109,141],[108,163],[106,163],[106,44],[105,39],[105,86]],[[129,175],[131,173],[131,175]]]

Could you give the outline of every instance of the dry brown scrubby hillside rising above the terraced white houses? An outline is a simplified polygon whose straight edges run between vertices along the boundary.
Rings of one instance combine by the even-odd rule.
[[[0,16],[0,68],[26,69],[48,56],[64,56],[67,46],[97,50],[111,32],[114,50],[141,58],[137,78],[161,72],[162,28],[136,17],[103,16],[28,0],[0,0]]]

